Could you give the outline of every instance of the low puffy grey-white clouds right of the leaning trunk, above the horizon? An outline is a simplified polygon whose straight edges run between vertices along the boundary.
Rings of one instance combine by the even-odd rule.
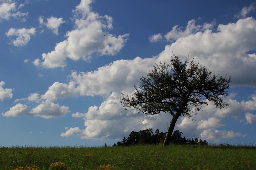
[[[216,108],[213,106],[214,103],[207,100],[209,105],[202,106],[202,112],[196,115],[197,121],[193,122],[188,117],[182,117],[177,123],[178,129],[188,134],[200,134],[199,136],[202,139],[214,140],[215,142],[225,138],[242,136],[242,134],[234,133],[233,131],[217,130],[217,128],[225,127],[225,124],[222,124],[223,120],[230,119],[230,117],[237,120],[242,113],[256,110],[255,98],[253,100],[238,102],[237,100],[233,100],[232,97],[233,95],[231,94],[224,98],[226,102],[229,102],[229,106],[224,109]],[[245,119],[250,124],[254,123],[255,117],[251,113],[245,114]]]

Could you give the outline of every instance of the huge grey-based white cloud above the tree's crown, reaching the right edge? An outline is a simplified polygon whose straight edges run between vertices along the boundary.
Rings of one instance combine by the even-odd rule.
[[[178,31],[179,34],[183,32]],[[255,40],[256,21],[249,17],[239,19],[236,23],[220,24],[217,32],[207,29],[182,35],[176,42],[167,45],[159,57],[168,57],[172,51],[178,56],[195,56],[195,61],[210,71],[231,75],[232,86],[255,87],[256,55],[247,54],[256,49]]]

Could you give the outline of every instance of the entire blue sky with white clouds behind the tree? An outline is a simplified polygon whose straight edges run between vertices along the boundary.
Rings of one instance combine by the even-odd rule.
[[[102,146],[166,132],[169,113],[125,110],[119,98],[173,54],[232,80],[229,106],[209,102],[174,130],[256,143],[255,18],[249,0],[0,0],[0,146]]]

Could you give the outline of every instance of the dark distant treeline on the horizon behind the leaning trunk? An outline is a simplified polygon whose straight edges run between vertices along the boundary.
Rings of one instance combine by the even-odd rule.
[[[159,132],[156,129],[155,134],[153,134],[153,129],[145,129],[140,130],[139,132],[132,131],[128,138],[125,136],[123,137],[122,141],[118,141],[114,143],[113,146],[133,146],[133,145],[148,145],[148,144],[160,144],[164,142],[166,133]],[[206,140],[202,141],[201,139],[198,141],[197,138],[195,139],[186,139],[185,136],[181,137],[182,132],[179,130],[174,131],[172,135],[172,140],[170,143],[172,144],[179,144],[179,145],[208,145]]]

